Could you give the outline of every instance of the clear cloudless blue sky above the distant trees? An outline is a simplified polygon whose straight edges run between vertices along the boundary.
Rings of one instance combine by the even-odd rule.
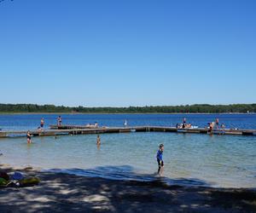
[[[1,0],[0,103],[255,103],[255,11],[249,0]]]

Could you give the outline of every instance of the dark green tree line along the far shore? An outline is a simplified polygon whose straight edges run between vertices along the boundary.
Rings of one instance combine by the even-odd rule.
[[[0,104],[0,112],[81,112],[81,113],[247,113],[256,112],[256,104],[145,107],[64,107],[38,104]]]

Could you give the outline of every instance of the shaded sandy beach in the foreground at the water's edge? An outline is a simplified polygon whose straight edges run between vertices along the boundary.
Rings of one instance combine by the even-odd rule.
[[[14,169],[38,176],[32,187],[1,187],[0,212],[256,212],[255,189],[166,186]]]

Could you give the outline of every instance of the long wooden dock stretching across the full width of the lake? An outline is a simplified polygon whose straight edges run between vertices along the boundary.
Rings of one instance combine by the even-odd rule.
[[[70,127],[72,127],[70,125]],[[163,126],[134,126],[134,127],[104,127],[104,128],[76,128],[65,130],[31,130],[32,136],[55,136],[55,135],[85,135],[85,134],[103,134],[103,133],[129,133],[129,132],[173,132],[180,134],[209,134],[209,135],[256,135],[256,130],[213,130],[209,132],[205,128],[195,129],[177,129],[175,127]],[[61,128],[60,128],[61,129]],[[0,138],[24,137],[25,130],[18,131],[0,131]]]

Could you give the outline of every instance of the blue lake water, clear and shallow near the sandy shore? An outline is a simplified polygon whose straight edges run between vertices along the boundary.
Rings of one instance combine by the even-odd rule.
[[[34,130],[44,117],[45,128],[57,114],[0,115],[2,130]],[[227,128],[256,129],[255,114],[64,114],[63,124],[173,126],[187,122],[204,127],[219,118]],[[158,145],[165,144],[163,181],[212,187],[256,187],[256,136],[177,133],[65,135],[0,139],[1,163],[65,171],[81,176],[121,180],[154,180]]]

